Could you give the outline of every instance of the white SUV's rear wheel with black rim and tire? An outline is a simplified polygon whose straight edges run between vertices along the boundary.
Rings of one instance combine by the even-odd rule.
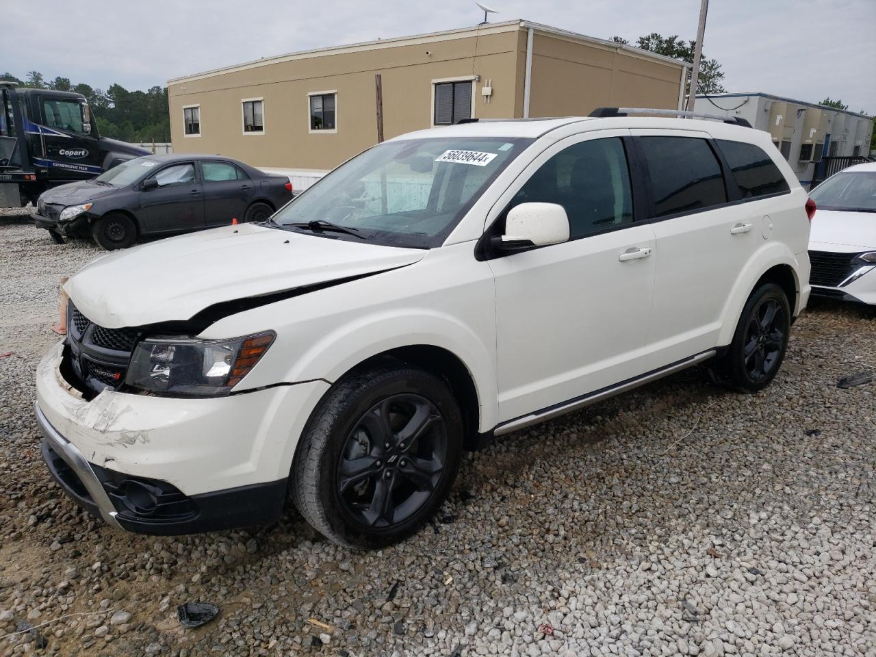
[[[738,392],[758,392],[775,378],[788,350],[791,309],[784,290],[760,286],[745,302],[727,353],[712,378]]]

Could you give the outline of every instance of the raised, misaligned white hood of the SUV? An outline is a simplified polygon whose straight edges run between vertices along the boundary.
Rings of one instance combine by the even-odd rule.
[[[120,329],[412,265],[425,254],[244,223],[109,253],[85,265],[64,289],[89,320]]]

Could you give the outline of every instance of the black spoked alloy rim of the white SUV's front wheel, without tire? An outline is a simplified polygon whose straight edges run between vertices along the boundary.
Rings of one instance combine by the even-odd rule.
[[[403,523],[432,496],[447,449],[447,427],[431,401],[415,394],[382,399],[341,450],[336,483],[344,511],[365,527]]]

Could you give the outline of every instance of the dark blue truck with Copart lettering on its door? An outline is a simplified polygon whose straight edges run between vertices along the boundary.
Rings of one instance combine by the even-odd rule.
[[[84,95],[0,81],[0,208],[149,152],[101,137]]]

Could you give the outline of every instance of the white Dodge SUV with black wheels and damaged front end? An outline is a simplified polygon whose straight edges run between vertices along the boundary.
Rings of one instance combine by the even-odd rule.
[[[291,499],[377,546],[492,436],[705,361],[758,391],[809,298],[811,201],[765,132],[612,113],[403,135],[267,223],[87,265],[37,372],[53,476],[132,532]]]

